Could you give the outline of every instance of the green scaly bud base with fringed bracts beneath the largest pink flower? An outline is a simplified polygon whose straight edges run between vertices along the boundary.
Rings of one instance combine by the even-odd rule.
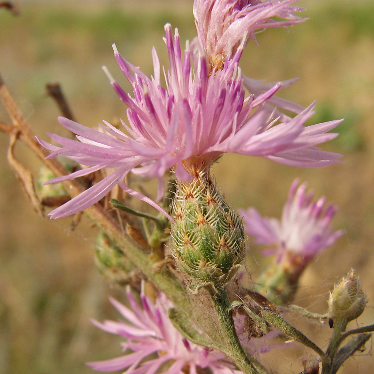
[[[224,201],[209,172],[190,183],[177,181],[171,252],[177,265],[198,282],[223,286],[235,274],[244,249],[241,217]]]

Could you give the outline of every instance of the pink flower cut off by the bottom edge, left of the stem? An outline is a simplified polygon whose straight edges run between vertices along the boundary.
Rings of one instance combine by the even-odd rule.
[[[113,360],[88,363],[93,369],[100,372],[127,369],[127,374],[196,374],[201,369],[213,374],[242,373],[235,370],[221,352],[197,346],[181,335],[168,317],[172,304],[164,294],[161,293],[153,304],[142,293],[142,307],[130,289],[127,296],[131,309],[111,300],[127,322],[105,321],[101,324],[93,321],[102,330],[127,339],[121,344],[126,354]]]

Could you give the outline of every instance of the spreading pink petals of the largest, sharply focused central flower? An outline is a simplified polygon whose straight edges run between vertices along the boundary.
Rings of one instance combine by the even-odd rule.
[[[314,104],[289,121],[278,121],[263,109],[266,100],[281,88],[275,84],[265,93],[246,97],[238,68],[242,53],[235,55],[216,74],[209,75],[204,55],[198,55],[191,66],[190,48],[184,56],[178,30],[173,39],[170,24],[165,26],[170,70],[165,73],[166,88],[161,85],[160,62],[153,49],[154,76],[148,78],[139,68],[123,59],[114,46],[115,57],[127,80],[133,97],[110,77],[120,99],[128,106],[129,126],[122,132],[104,121],[106,134],[65,118],[60,123],[76,134],[78,141],[50,134],[62,147],[39,142],[51,151],[49,158],[66,156],[88,168],[49,183],[81,177],[100,169],[115,171],[50,215],[58,218],[83,210],[99,201],[116,184],[128,193],[158,205],[149,197],[130,189],[124,177],[131,171],[139,176],[158,178],[163,191],[163,176],[174,168],[176,177],[190,181],[196,170],[209,166],[226,152],[265,157],[279,163],[300,167],[320,167],[337,163],[341,155],[323,152],[317,144],[333,139],[326,133],[341,121],[330,121],[305,127],[313,114]],[[160,211],[163,211],[159,207]],[[164,214],[169,216],[165,211]]]

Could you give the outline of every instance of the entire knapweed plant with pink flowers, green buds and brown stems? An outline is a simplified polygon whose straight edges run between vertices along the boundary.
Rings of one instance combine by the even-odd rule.
[[[342,155],[316,146],[334,139],[338,134],[330,131],[342,120],[306,126],[316,103],[303,108],[276,96],[294,79],[263,84],[244,76],[240,68],[243,49],[251,39],[257,43],[257,31],[306,20],[298,16],[304,9],[295,2],[195,0],[197,36],[183,49],[178,29],[173,32],[166,24],[169,68],[161,69],[153,48],[151,77],[113,44],[132,87],[126,92],[104,67],[128,108],[122,127],[104,121],[99,128],[89,128],[59,117],[76,139],[49,134],[52,144],[35,138],[0,79],[1,98],[13,122],[1,127],[10,135],[8,160],[27,196],[41,214],[45,206],[58,205],[48,213],[51,218],[85,211],[100,228],[99,270],[112,283],[127,285],[130,307],[112,300],[126,321],[94,322],[127,339],[124,356],[89,363],[93,369],[128,374],[274,373],[256,352],[272,349],[267,340],[280,335],[314,351],[303,373],[318,373],[321,366],[321,373],[334,374],[370,338],[373,326],[346,331],[367,304],[354,271],[332,291],[325,315],[293,307],[306,317],[329,321],[334,331],[326,350],[287,322],[278,308],[293,300],[300,276],[316,254],[342,235],[331,226],[335,205],[324,208],[325,198],[313,202],[306,184],[298,187],[296,180],[281,221],[262,218],[254,208],[243,211],[248,233],[260,244],[275,246],[264,254],[276,254],[257,286],[247,289],[241,283],[244,270],[239,272],[248,250],[242,217],[211,171],[228,152],[297,167],[339,163]],[[45,165],[39,195],[14,157],[18,140]],[[46,175],[53,177],[45,182]],[[157,197],[139,191],[134,176],[157,179]],[[158,213],[137,210],[129,196]],[[45,197],[52,197],[53,204]],[[350,335],[356,337],[342,347]]]

